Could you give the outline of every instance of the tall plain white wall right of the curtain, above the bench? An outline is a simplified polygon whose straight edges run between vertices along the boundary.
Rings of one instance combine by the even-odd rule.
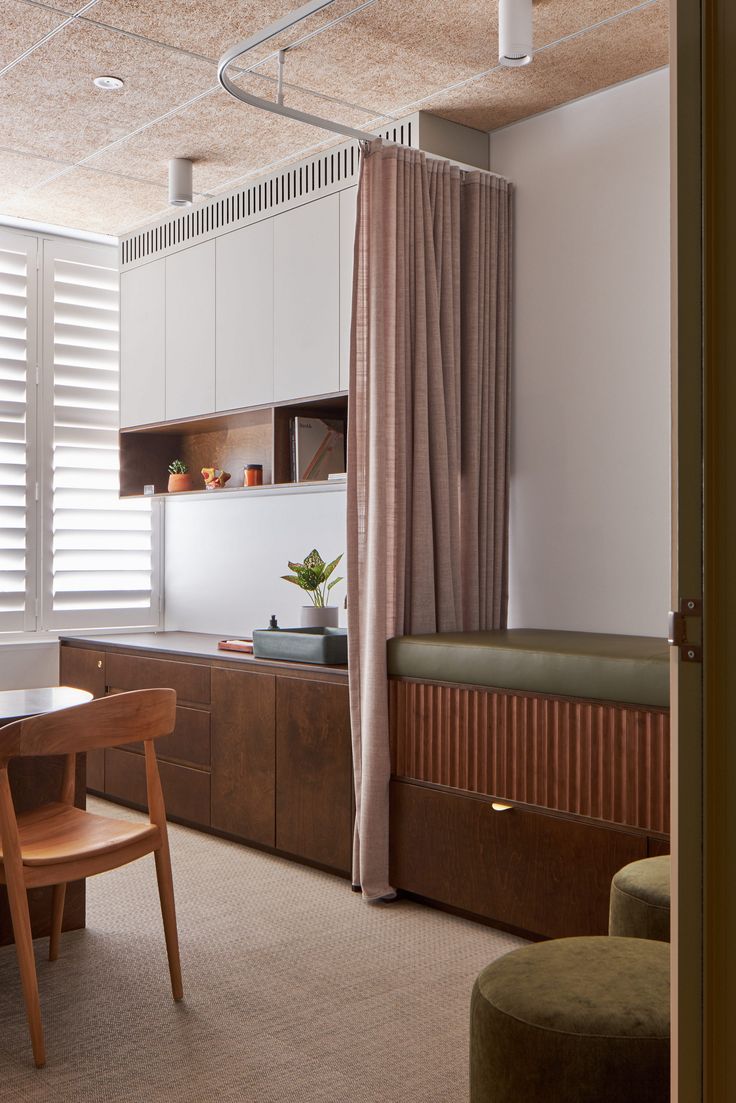
[[[669,74],[490,136],[514,182],[510,625],[664,635]]]

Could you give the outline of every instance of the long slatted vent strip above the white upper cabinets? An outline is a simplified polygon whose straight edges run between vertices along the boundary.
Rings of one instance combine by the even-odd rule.
[[[382,132],[388,141],[412,144],[412,122],[399,122]],[[358,142],[320,153],[270,176],[264,176],[221,199],[211,200],[186,214],[179,214],[149,229],[129,234],[120,242],[120,267],[126,268],[238,225],[257,222],[306,199],[339,191],[355,183],[360,162]]]

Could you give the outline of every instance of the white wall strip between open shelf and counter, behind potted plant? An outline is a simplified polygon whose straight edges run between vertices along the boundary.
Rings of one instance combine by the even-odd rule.
[[[345,550],[344,486],[252,499],[168,499],[167,630],[244,635],[267,628],[271,613],[284,628],[298,625],[299,608],[309,599],[280,576],[289,574],[289,559],[301,560],[313,547],[326,560]],[[342,606],[344,596],[341,582],[331,603]]]

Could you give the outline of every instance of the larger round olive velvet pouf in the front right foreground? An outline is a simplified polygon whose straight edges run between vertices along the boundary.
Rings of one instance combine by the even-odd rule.
[[[558,939],[515,950],[478,976],[470,1103],[669,1099],[669,946]]]

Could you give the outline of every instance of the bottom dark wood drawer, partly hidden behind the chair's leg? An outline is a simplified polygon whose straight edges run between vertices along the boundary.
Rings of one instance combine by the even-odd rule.
[[[167,813],[193,824],[210,826],[210,774],[172,762],[159,762]],[[105,751],[105,791],[121,801],[146,806],[146,760],[142,754]]]

